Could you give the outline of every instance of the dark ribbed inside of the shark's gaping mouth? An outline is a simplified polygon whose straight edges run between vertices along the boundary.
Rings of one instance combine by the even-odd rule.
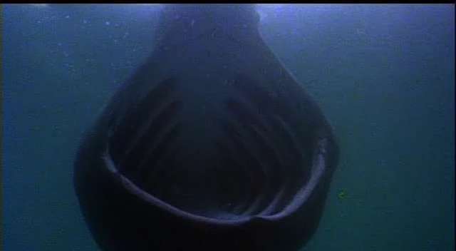
[[[246,83],[247,82],[247,83]],[[247,85],[250,86],[247,88]],[[238,95],[223,103],[224,119],[209,125],[206,145],[182,140],[178,83],[162,81],[110,120],[107,158],[138,188],[203,217],[240,219],[278,214],[311,175],[311,135],[298,135],[276,100],[240,76]]]

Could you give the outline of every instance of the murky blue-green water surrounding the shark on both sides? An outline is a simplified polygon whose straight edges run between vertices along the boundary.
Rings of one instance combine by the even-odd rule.
[[[98,250],[73,190],[74,153],[151,53],[160,8],[2,6],[2,250]],[[303,250],[454,250],[455,6],[258,9],[264,40],[341,147]]]

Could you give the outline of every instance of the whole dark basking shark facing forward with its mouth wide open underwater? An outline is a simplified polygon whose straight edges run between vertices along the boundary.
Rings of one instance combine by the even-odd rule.
[[[78,150],[102,250],[299,250],[338,161],[331,126],[252,4],[167,5],[152,56]]]

